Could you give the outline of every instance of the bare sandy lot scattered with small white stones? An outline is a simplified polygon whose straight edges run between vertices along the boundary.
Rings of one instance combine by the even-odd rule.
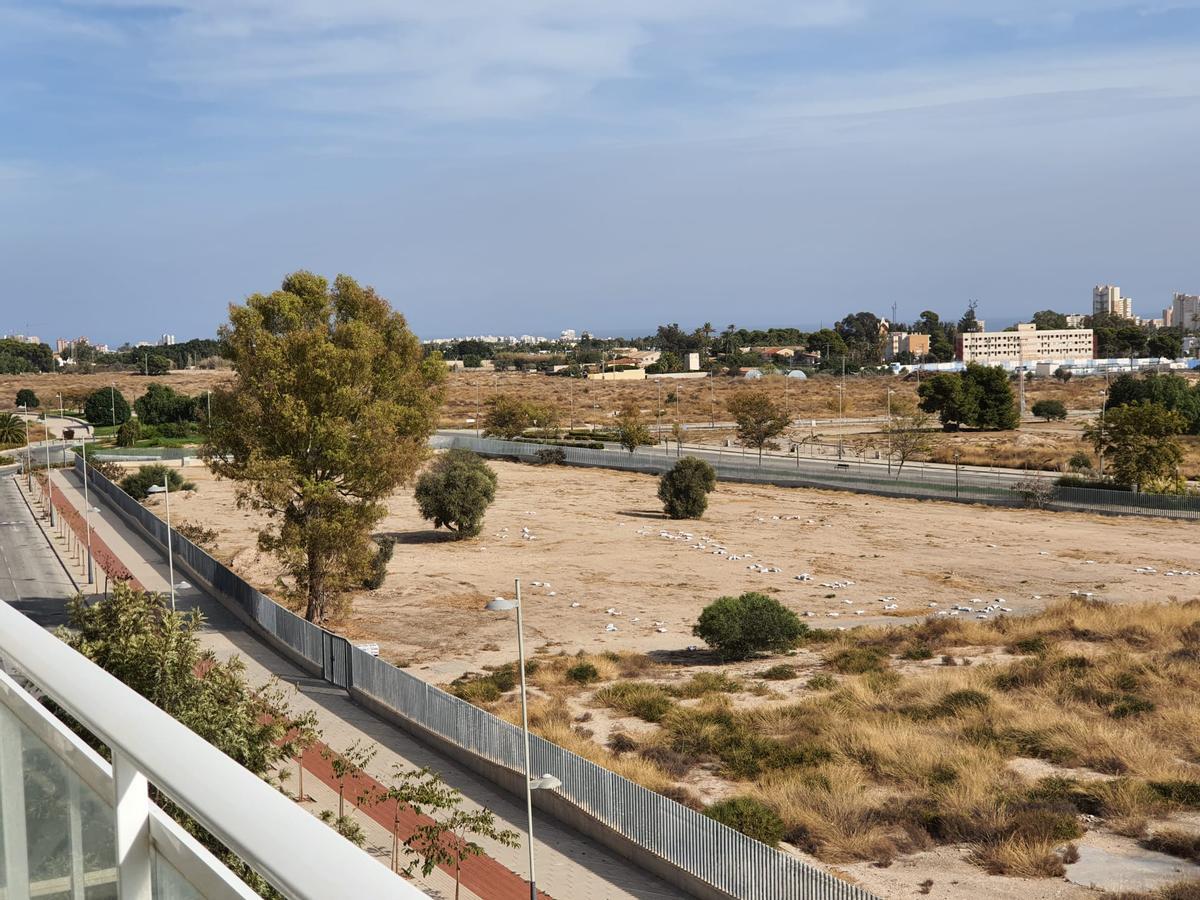
[[[380,528],[397,539],[388,581],[355,598],[341,630],[442,682],[514,656],[512,623],[481,607],[518,577],[534,647],[569,652],[686,648],[706,604],[745,590],[778,596],[811,625],[847,628],[1021,612],[1075,590],[1127,601],[1200,588],[1195,575],[1170,574],[1195,565],[1184,522],[748,485],[720,485],[703,521],[672,522],[652,476],[493,466],[499,491],[474,540],[445,540],[408,491],[394,497]],[[186,474],[199,490],[173,515],[216,529],[218,554],[270,590],[278,572],[254,547],[259,520],[235,508],[232,484],[200,467]]]

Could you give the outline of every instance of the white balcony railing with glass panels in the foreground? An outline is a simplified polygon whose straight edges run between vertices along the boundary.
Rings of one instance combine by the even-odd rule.
[[[0,900],[257,898],[150,803],[148,782],[287,898],[426,896],[2,601],[0,662]]]

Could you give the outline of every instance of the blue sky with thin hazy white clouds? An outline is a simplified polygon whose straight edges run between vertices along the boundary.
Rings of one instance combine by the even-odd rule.
[[[0,331],[298,268],[425,337],[1200,290],[1200,0],[0,0]]]

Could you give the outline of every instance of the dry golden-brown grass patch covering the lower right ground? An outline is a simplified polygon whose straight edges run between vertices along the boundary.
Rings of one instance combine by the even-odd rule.
[[[931,659],[899,667],[923,655],[916,647]],[[586,746],[570,718],[584,691],[626,713],[653,692],[667,706],[640,733],[640,755],[593,744],[589,758],[654,785],[703,766],[772,806],[785,840],[834,863],[952,842],[989,872],[1051,877],[1082,814],[1140,836],[1154,818],[1200,808],[1200,601],[1060,601],[1021,618],[858,629],[814,649],[882,664],[826,690],[797,685],[798,695],[746,703],[715,686],[732,684],[715,673],[701,679],[713,690],[692,690],[661,664],[636,661],[634,680],[620,656],[552,658],[535,674],[548,691],[534,703],[535,727]],[[949,650],[978,664],[936,665]],[[605,667],[600,690],[560,676],[577,659]],[[512,700],[499,707],[515,716]],[[1015,757],[1094,774],[1034,782],[1009,766]]]

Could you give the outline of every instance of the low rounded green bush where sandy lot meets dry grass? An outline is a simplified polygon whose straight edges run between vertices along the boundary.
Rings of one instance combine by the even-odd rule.
[[[700,613],[691,632],[724,661],[744,660],[756,653],[782,653],[808,634],[794,612],[766,594],[722,596]]]

